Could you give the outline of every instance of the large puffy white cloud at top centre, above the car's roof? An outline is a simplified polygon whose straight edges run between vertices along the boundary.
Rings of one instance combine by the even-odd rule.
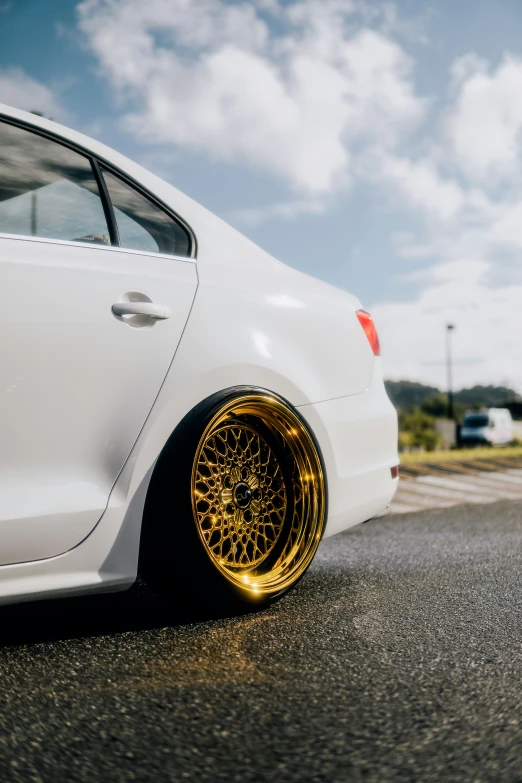
[[[260,166],[314,194],[349,181],[354,145],[393,148],[425,114],[410,58],[382,33],[354,27],[362,7],[84,0],[78,13],[102,72],[136,106],[128,129]]]

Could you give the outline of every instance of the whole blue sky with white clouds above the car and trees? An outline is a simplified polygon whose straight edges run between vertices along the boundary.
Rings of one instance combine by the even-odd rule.
[[[355,294],[385,375],[522,392],[520,0],[0,0],[0,102]]]

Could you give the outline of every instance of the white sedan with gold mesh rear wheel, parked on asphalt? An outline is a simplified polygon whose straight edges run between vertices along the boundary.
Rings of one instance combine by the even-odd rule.
[[[371,316],[117,152],[0,106],[0,600],[266,605],[384,512]]]

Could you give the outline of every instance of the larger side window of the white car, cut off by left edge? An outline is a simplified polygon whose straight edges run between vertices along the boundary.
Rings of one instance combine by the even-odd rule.
[[[0,122],[0,232],[110,245],[89,159]]]

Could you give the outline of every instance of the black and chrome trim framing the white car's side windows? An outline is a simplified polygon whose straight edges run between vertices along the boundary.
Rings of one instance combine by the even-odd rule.
[[[57,242],[59,244],[72,244],[72,245],[80,245],[81,247],[104,247],[107,250],[125,250],[129,253],[139,253],[140,255],[150,255],[150,256],[161,256],[162,258],[175,258],[176,260],[185,259],[188,261],[196,261],[197,260],[197,239],[194,231],[190,227],[190,225],[183,220],[171,207],[167,206],[161,199],[159,199],[154,193],[151,193],[147,188],[145,188],[143,185],[141,185],[139,182],[136,182],[132,177],[130,177],[126,172],[119,169],[117,166],[115,166],[113,163],[108,161],[106,158],[101,157],[100,155],[95,155],[91,150],[89,150],[87,147],[82,146],[81,144],[78,144],[76,142],[70,141],[70,139],[66,139],[63,136],[60,136],[57,133],[54,133],[52,131],[48,131],[44,128],[39,128],[36,125],[32,125],[30,122],[27,122],[26,120],[19,120],[17,118],[11,117],[8,114],[4,114],[0,111],[0,122],[5,122],[7,125],[13,125],[14,127],[22,128],[23,130],[27,130],[31,133],[36,133],[39,136],[43,136],[44,138],[49,139],[50,141],[54,141],[57,144],[61,144],[64,147],[69,147],[69,149],[72,149],[73,152],[77,152],[80,155],[83,155],[83,157],[86,157],[91,165],[93,176],[96,179],[96,184],[98,185],[99,195],[100,199],[102,201],[103,211],[105,214],[105,218],[107,220],[107,227],[109,230],[111,242],[113,241],[113,236],[115,239],[117,239],[118,244],[114,245],[94,245],[89,243],[81,243],[81,242],[74,242],[73,240],[53,240],[50,239],[50,242]],[[178,223],[178,225],[181,226],[181,228],[186,231],[188,238],[189,238],[189,255],[188,256],[173,256],[173,255],[167,255],[165,253],[152,253],[148,251],[142,251],[142,250],[132,250],[130,248],[120,248],[119,247],[119,237],[118,237],[118,226],[116,223],[116,217],[114,215],[114,210],[112,207],[112,202],[109,198],[109,193],[107,190],[107,186],[105,185],[105,182],[103,180],[102,173],[100,171],[100,164],[107,169],[107,171],[114,173],[116,176],[118,176],[120,179],[122,179],[129,187],[134,188],[138,193],[140,193],[145,198],[149,199],[153,204],[155,204],[159,209],[161,209],[163,212],[165,212],[171,220],[173,220],[175,223]],[[13,235],[13,234],[2,234],[0,232],[0,236],[3,237],[9,237],[14,238],[15,236],[22,236],[20,234]],[[46,237],[24,237],[25,239],[34,239],[35,241],[47,241]]]

